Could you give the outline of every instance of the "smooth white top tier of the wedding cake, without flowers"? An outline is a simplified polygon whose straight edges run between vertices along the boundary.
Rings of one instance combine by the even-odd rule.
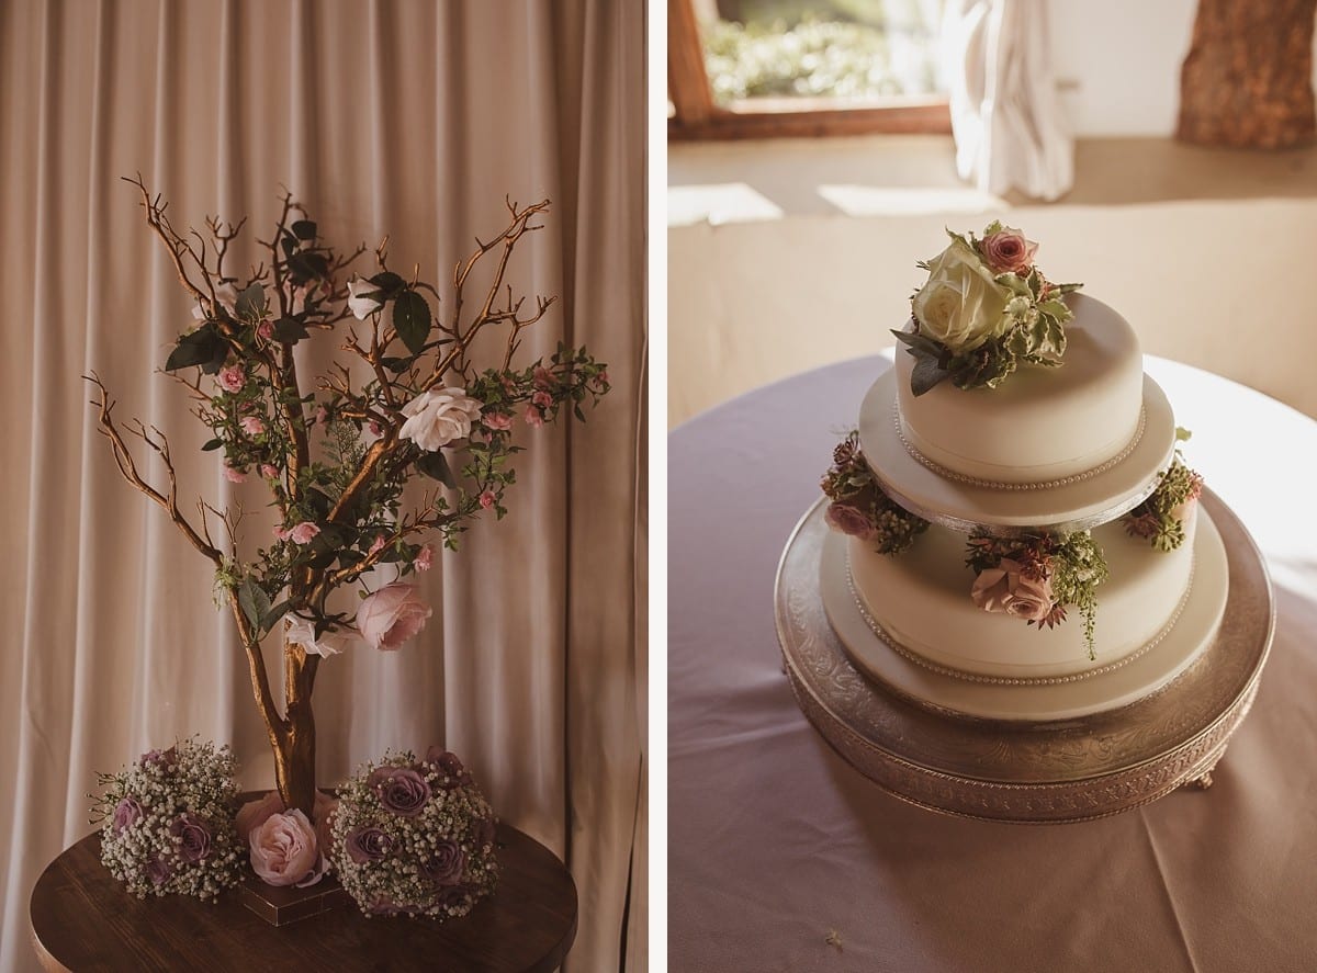
[[[997,388],[910,391],[914,358],[897,352],[901,429],[932,462],[984,481],[1027,483],[1093,469],[1134,437],[1143,355],[1129,323],[1102,302],[1071,294],[1060,367],[1022,365]]]

